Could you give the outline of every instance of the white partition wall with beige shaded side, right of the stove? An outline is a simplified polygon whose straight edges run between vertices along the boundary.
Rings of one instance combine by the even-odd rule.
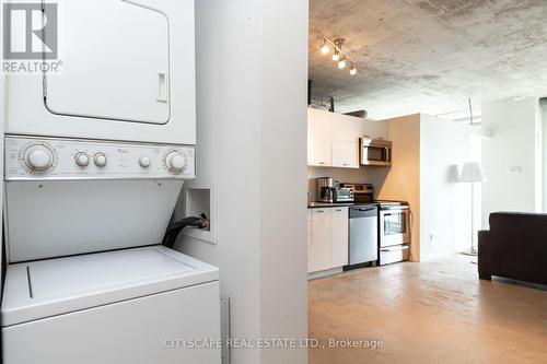
[[[470,244],[470,189],[458,166],[470,157],[470,129],[428,115],[387,120],[393,166],[380,198],[408,201],[412,260],[424,261]]]

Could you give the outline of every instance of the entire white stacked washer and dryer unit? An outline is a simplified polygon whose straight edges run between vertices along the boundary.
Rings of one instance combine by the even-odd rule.
[[[194,0],[56,2],[61,70],[7,79],[3,363],[218,363],[173,345],[220,337],[218,269],[161,245],[196,174]]]

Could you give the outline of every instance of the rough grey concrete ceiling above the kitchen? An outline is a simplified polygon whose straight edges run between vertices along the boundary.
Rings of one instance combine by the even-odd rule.
[[[344,37],[359,73],[319,51]],[[491,99],[547,95],[546,0],[310,0],[314,98],[372,119],[458,119]]]

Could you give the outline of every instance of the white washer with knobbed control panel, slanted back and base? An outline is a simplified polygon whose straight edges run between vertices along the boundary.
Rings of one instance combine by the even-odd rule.
[[[218,269],[159,245],[194,160],[193,146],[5,138],[4,364],[220,363],[216,344],[173,344],[220,339]]]

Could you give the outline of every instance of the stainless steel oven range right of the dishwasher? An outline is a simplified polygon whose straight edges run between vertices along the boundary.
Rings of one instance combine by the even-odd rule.
[[[410,208],[406,202],[380,201],[380,265],[410,258]]]

